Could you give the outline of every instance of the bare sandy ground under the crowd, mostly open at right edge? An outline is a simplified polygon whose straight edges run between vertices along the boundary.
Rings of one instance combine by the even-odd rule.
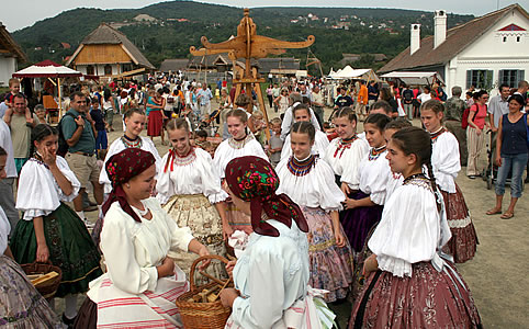
[[[271,116],[275,115],[271,113]],[[420,125],[417,120],[414,124]],[[114,126],[121,128],[119,116],[115,117]],[[121,134],[111,133],[109,141],[116,139]],[[169,147],[161,146],[159,138],[155,138],[155,144],[160,156],[164,156]],[[485,167],[485,163],[483,152],[481,167]],[[495,195],[494,190],[486,190],[483,180],[470,180],[462,171],[457,182],[463,191],[480,239],[475,258],[458,265],[458,269],[472,291],[483,324],[486,328],[529,328],[528,198],[521,197],[515,217],[504,220],[499,215],[485,215],[494,205]],[[504,208],[507,207],[509,197],[507,192]],[[95,215],[89,213],[89,218],[95,220]],[[57,313],[60,314],[63,305],[58,304],[57,308]],[[334,308],[344,328],[350,314],[350,305],[344,304]]]

